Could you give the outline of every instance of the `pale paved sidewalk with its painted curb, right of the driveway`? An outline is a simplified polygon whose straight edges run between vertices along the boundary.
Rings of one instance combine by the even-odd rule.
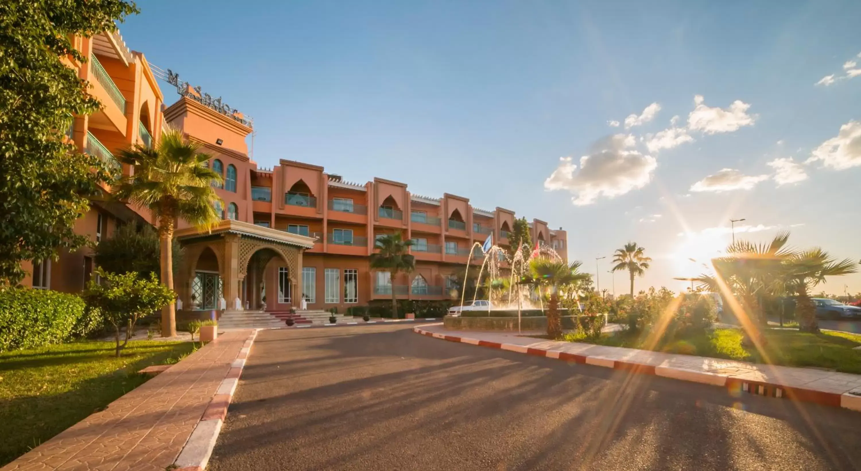
[[[736,388],[758,395],[789,397],[861,411],[861,375],[650,352],[634,348],[533,339],[516,333],[452,331],[442,324],[414,327],[417,333],[531,355],[594,364]]]

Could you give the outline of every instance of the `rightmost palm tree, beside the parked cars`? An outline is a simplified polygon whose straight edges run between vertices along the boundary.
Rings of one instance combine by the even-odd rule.
[[[853,260],[835,260],[821,248],[810,248],[793,254],[784,263],[788,291],[796,297],[796,318],[802,332],[819,332],[816,309],[810,301],[808,291],[817,284],[825,283],[825,277],[848,275],[857,272]]]

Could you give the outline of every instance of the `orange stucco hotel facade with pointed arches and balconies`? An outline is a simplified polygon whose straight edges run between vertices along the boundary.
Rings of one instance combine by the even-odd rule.
[[[144,129],[157,139],[162,127],[171,125],[200,143],[201,150],[212,156],[210,168],[225,177],[216,188],[224,201],[223,217],[238,223],[201,234],[177,221],[177,241],[188,248],[189,256],[175,275],[175,289],[186,308],[203,304],[192,298],[195,293],[200,297],[201,284],[216,286],[227,309],[257,309],[263,296],[267,310],[300,307],[304,298],[307,309],[337,307],[339,312],[370,300],[390,299],[392,291],[404,299],[448,299],[452,296],[449,277],[468,263],[480,264],[480,259],[469,256],[476,243],[492,236],[494,243],[508,246],[515,219],[511,210],[481,210],[470,205],[467,197],[449,193],[440,198],[419,196],[406,183],[383,178],[353,183],[312,163],[282,159],[274,168],[259,168],[248,156],[250,123],[189,96],[164,107],[143,54],[124,49],[118,34],[103,36],[80,40],[82,51],[97,58],[126,102],[120,113],[116,94],[109,92],[111,87],[102,78],[92,92],[102,101],[102,110],[75,118],[71,138],[78,147],[94,151],[88,139],[97,139],[115,152],[143,143]],[[91,66],[77,67],[83,78],[94,82]],[[133,169],[123,168],[123,172]],[[108,237],[117,223],[152,223],[149,219],[146,210],[106,197],[94,201],[75,229],[95,240],[97,224],[101,224],[99,236]],[[537,219],[531,229],[533,241],[552,246],[567,260],[564,230],[551,230]],[[369,255],[375,250],[375,237],[395,232],[415,242],[411,252],[416,270],[401,273],[389,284],[387,276],[370,269]],[[46,287],[79,291],[90,277],[89,257],[88,248],[60,254],[51,264]],[[25,284],[33,284],[33,278]]]

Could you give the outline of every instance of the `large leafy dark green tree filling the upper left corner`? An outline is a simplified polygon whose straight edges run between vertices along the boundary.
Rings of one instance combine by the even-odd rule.
[[[63,134],[73,113],[93,113],[99,103],[60,58],[86,62],[71,36],[113,31],[135,12],[122,0],[0,2],[0,284],[21,282],[23,260],[87,242],[72,228],[108,169]]]

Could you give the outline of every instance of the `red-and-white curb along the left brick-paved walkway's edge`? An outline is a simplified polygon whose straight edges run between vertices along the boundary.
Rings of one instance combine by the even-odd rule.
[[[239,383],[239,376],[245,368],[245,358],[248,358],[259,330],[252,330],[248,339],[245,339],[245,344],[233,360],[227,376],[221,381],[218,390],[209,401],[209,406],[195,425],[195,430],[191,432],[189,440],[179,452],[177,461],[173,463],[177,471],[203,471],[207,468],[209,457],[212,456],[215,448],[215,440],[218,439],[221,425],[224,424],[227,416],[227,407],[230,406],[233,393],[236,392]]]

